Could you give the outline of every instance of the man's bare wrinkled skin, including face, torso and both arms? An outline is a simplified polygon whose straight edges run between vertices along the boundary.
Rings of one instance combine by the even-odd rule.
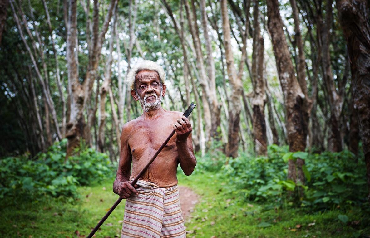
[[[135,81],[136,90],[132,90],[131,95],[135,101],[140,101],[144,112],[122,128],[120,162],[113,183],[114,193],[124,199],[138,194],[135,190],[138,186],[131,186],[129,181],[148,163],[172,130],[175,130],[175,135],[140,179],[159,187],[171,187],[178,183],[178,164],[186,175],[190,175],[196,165],[191,140],[192,126],[182,112],[162,108],[159,99],[165,95],[166,85],[161,88],[158,73],[140,71]]]

